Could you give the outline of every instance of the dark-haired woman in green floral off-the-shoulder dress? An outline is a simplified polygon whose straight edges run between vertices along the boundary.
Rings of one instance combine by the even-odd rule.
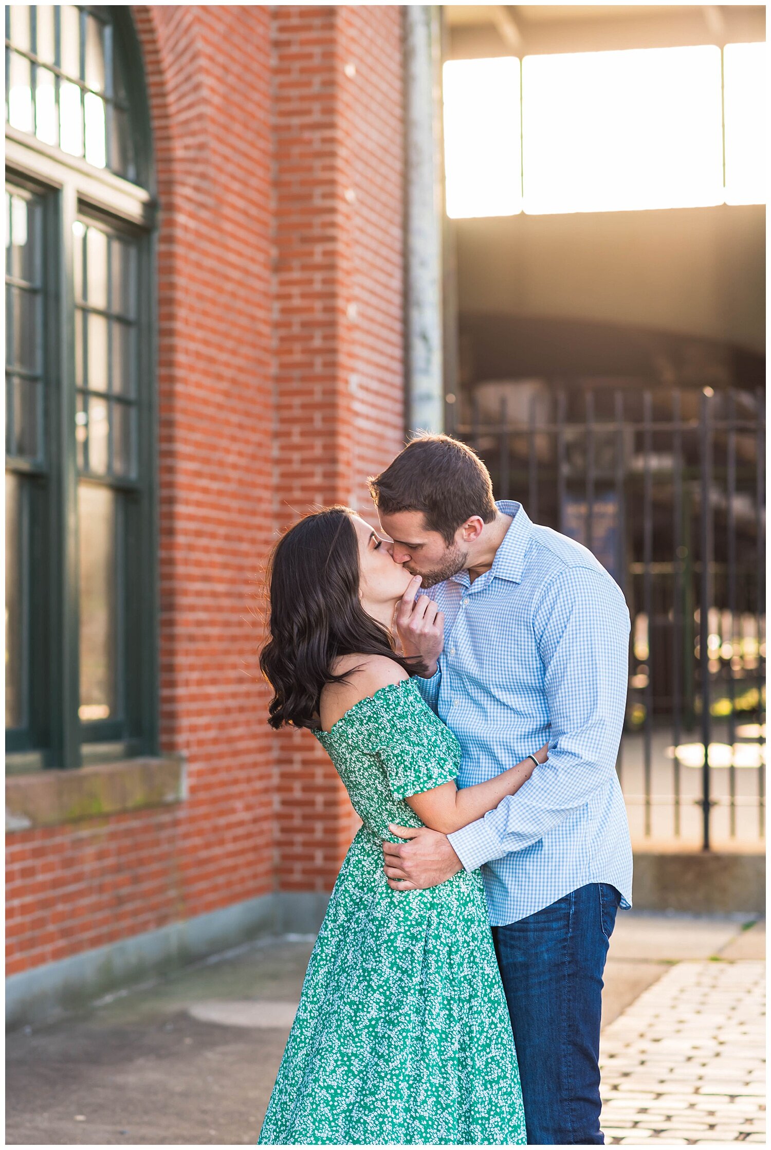
[[[381,841],[398,841],[388,823],[448,833],[481,818],[535,759],[456,789],[457,741],[409,677],[426,668],[398,654],[391,634],[410,575],[349,508],[300,520],[269,578],[269,722],[313,730],[362,827],[310,956],[260,1142],[524,1143],[479,872],[392,890]]]

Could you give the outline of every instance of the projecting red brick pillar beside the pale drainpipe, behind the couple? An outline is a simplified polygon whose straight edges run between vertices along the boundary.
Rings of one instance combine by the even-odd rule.
[[[403,446],[399,7],[271,9],[275,523],[371,515],[367,476]],[[308,731],[277,738],[279,890],[332,885],[356,827]]]

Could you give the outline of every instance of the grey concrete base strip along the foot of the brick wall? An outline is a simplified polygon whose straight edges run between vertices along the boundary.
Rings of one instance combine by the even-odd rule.
[[[267,934],[316,934],[327,902],[329,895],[263,895],[13,974],[6,979],[6,1027],[51,1021]]]

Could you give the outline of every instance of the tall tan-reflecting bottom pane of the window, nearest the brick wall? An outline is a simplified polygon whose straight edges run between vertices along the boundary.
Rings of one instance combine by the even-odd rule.
[[[80,707],[84,721],[116,713],[115,492],[78,484]]]

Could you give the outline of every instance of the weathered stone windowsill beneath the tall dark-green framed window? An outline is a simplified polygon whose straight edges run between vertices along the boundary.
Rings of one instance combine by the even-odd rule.
[[[185,798],[183,756],[6,776],[6,831],[55,827]]]

